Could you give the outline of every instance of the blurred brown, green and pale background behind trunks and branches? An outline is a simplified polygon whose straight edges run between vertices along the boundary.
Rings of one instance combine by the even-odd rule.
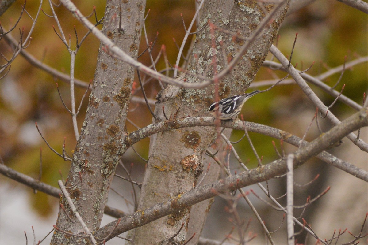
[[[0,17],[1,26],[4,30],[9,30],[17,22],[22,4],[24,4],[23,1],[16,1]],[[96,6],[97,17],[100,19],[103,17],[106,2],[91,0],[76,1],[75,4],[84,15],[91,14],[93,6]],[[27,1],[26,10],[34,17],[38,6],[39,1]],[[47,14],[51,14],[47,2],[43,3],[42,8]],[[161,46],[165,45],[169,62],[174,65],[178,48],[173,38],[180,46],[185,34],[180,14],[183,14],[185,24],[188,26],[195,12],[194,1],[148,0],[146,12],[148,9],[151,9],[151,11],[145,25],[149,42],[155,39],[157,32],[159,33],[152,55],[155,58]],[[72,18],[70,12],[63,6],[55,8],[55,11],[65,35],[67,37],[69,34],[71,35],[71,43],[73,44],[76,41],[73,26],[75,26],[80,40],[86,33],[86,29],[75,18]],[[290,56],[295,34],[298,33],[293,64],[298,63],[297,68],[304,70],[312,62],[315,62],[308,74],[316,76],[332,67],[342,65],[345,56],[348,62],[368,55],[367,20],[367,15],[364,13],[338,1],[319,0],[285,19],[280,29],[277,46],[285,55],[289,54]],[[93,16],[90,21],[94,22]],[[31,25],[31,19],[23,14],[11,35],[19,40],[18,29],[24,27],[26,35]],[[55,34],[52,25],[56,25],[54,19],[41,12],[32,33],[31,44],[26,51],[45,64],[69,74],[70,55],[65,45]],[[101,27],[99,26],[99,28]],[[186,54],[189,44],[190,40],[186,45],[184,54]],[[74,47],[74,45],[71,46]],[[89,35],[76,56],[75,78],[86,83],[93,79],[98,47],[99,41],[93,35]],[[142,38],[139,53],[145,48],[146,42]],[[13,50],[4,40],[0,40],[0,52],[9,58]],[[0,60],[1,64],[5,63],[4,59],[0,58]],[[147,54],[142,55],[139,61],[151,65]],[[156,67],[158,70],[165,68],[162,58]],[[347,69],[336,90],[340,91],[343,84],[346,84],[343,94],[362,105],[363,93],[367,93],[368,89],[367,70],[367,62]],[[4,74],[2,73],[0,76]],[[283,72],[262,67],[254,83],[283,76],[285,76]],[[339,77],[340,73],[337,73],[328,77],[324,82],[329,86],[333,86]],[[42,156],[42,176],[40,176],[40,180],[58,187],[57,180],[66,179],[70,162],[56,156],[47,147],[35,127],[35,122],[37,122],[43,136],[58,152],[62,151],[65,138],[65,149],[69,155],[72,154],[71,151],[74,150],[76,141],[71,116],[61,103],[56,83],[59,85],[64,102],[70,108],[70,87],[67,83],[54,79],[50,74],[30,65],[21,55],[14,60],[9,73],[0,80],[0,156],[7,166],[36,179],[39,178],[40,156]],[[267,87],[263,86],[260,89]],[[325,105],[330,105],[333,102],[334,98],[332,96],[313,85],[311,85],[311,88]],[[159,86],[153,81],[145,86],[145,91],[149,98],[155,99]],[[84,93],[85,88],[75,88],[77,106]],[[136,95],[141,96],[141,92],[137,91]],[[79,128],[84,121],[86,106],[87,99],[82,103],[77,117]],[[340,120],[355,112],[354,109],[339,101],[331,110]],[[279,128],[302,138],[315,114],[315,107],[296,84],[289,84],[276,86],[265,94],[253,97],[243,107],[242,114],[247,121]],[[144,127],[151,123],[151,114],[146,105],[142,103],[131,102],[128,118],[138,127]],[[332,127],[327,119],[319,118],[319,123],[322,131],[327,131]],[[136,127],[133,124],[127,122],[128,132],[135,129]],[[367,142],[367,134],[367,128],[364,128],[361,132],[361,138],[365,142]],[[318,135],[319,131],[314,122],[306,140],[312,140]],[[238,140],[242,136],[243,132],[234,131],[231,140]],[[264,164],[279,158],[272,146],[272,140],[275,139],[253,133],[250,133],[250,137],[258,154],[263,156],[262,162]],[[360,151],[350,140],[345,138],[343,141],[342,146],[330,150],[330,153],[367,171],[367,153]],[[275,142],[280,149],[279,141],[275,140]],[[148,146],[149,139],[144,139],[135,144],[134,148],[142,157],[147,158]],[[243,161],[249,162],[249,168],[256,167],[256,158],[247,140],[244,139],[237,143],[236,149]],[[295,149],[296,147],[284,144],[286,153]],[[127,168],[132,169],[134,179],[141,182],[144,176],[145,162],[132,149],[124,154],[123,162]],[[231,162],[235,163],[236,161],[232,160]],[[233,170],[240,171],[236,164],[234,164]],[[125,174],[122,168],[118,168],[117,173]],[[368,210],[368,187],[366,182],[333,168],[316,158],[298,168],[295,174],[296,182],[299,184],[308,183],[317,174],[320,175],[311,184],[296,187],[296,205],[304,204],[308,196],[313,198],[328,186],[331,186],[331,190],[325,197],[309,206],[303,216],[320,237],[329,239],[332,237],[333,230],[340,228],[342,230],[348,228],[353,234],[360,231],[365,213]],[[274,197],[279,197],[285,193],[285,181],[284,178],[269,181],[269,189]],[[128,213],[132,212],[133,207],[129,204],[133,200],[130,183],[115,178],[112,189],[114,191],[110,191],[108,205]],[[250,189],[254,189],[256,193],[262,196],[261,191],[256,186],[244,188],[245,191]],[[139,190],[136,191],[139,193]],[[124,198],[121,198],[120,195],[123,195]],[[282,222],[283,214],[263,204],[252,195],[250,195],[250,198],[269,230],[276,230]],[[265,195],[263,195],[263,198],[266,198]],[[285,204],[284,198],[279,201],[281,204]],[[231,214],[224,212],[225,205],[227,205],[226,200],[215,198],[208,216],[208,225],[202,234],[204,237],[222,240],[230,232],[232,224],[228,219]],[[32,226],[35,229],[36,241],[41,240],[52,230],[52,225],[56,222],[58,209],[59,200],[57,198],[49,197],[39,191],[35,193],[29,187],[0,175],[0,244],[25,244],[24,231],[26,231],[28,240],[32,241]],[[249,219],[253,220],[248,231],[258,235],[250,244],[266,243],[265,235],[243,200],[238,203],[238,211],[246,222]],[[298,212],[296,211],[296,215],[298,215]],[[102,225],[112,220],[114,218],[104,217]],[[273,235],[277,244],[286,243],[285,228],[286,222]],[[365,232],[367,233],[367,224]],[[346,239],[344,239],[345,237]],[[51,236],[45,240],[44,244],[47,244],[50,238]],[[307,244],[315,244],[315,240],[309,238],[306,240]],[[299,243],[304,243],[305,232],[301,233],[297,239]],[[348,234],[339,239],[340,242],[350,240],[351,235]],[[123,240],[114,238],[107,244],[123,243]]]

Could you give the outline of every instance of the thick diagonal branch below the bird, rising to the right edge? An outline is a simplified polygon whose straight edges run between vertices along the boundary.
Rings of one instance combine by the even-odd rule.
[[[353,116],[330,129],[325,134],[322,134],[312,142],[295,151],[294,168],[304,164],[304,162],[321,153],[323,149],[326,149],[338,142],[350,132],[365,126],[368,126],[367,108],[363,108]],[[200,186],[188,191],[187,193],[170,198],[165,202],[137,211],[130,216],[125,216],[118,221],[115,220],[96,231],[95,236],[106,237],[108,235],[106,238],[107,241],[118,234],[131,230],[132,228],[142,226],[152,222],[153,220],[159,219],[160,217],[164,217],[170,213],[180,211],[193,204],[214,197],[216,193],[225,193],[229,190],[243,188],[251,184],[266,181],[274,176],[285,173],[286,170],[286,160],[282,158],[278,159],[270,164],[251,169],[250,171],[243,172],[239,175],[230,176],[212,184]]]

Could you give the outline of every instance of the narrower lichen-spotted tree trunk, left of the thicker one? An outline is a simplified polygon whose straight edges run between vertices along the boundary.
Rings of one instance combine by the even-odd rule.
[[[145,1],[126,2],[107,1],[103,32],[123,51],[137,58]],[[67,191],[92,233],[100,227],[109,186],[122,154],[134,74],[132,66],[113,58],[101,43],[85,121],[66,181]],[[51,244],[90,244],[88,238],[63,232],[84,234],[85,231],[64,197],[60,205]]]

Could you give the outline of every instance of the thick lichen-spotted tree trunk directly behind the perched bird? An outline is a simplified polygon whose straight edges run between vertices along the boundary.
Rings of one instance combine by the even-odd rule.
[[[230,74],[217,81],[217,84],[206,89],[181,89],[173,86],[164,89],[155,106],[158,118],[164,119],[163,110],[167,117],[204,116],[217,93],[220,99],[244,93],[265,60],[288,5],[289,1],[282,3],[272,21],[263,27],[261,34],[252,40],[237,65],[230,69]],[[199,26],[204,26],[208,21],[210,23],[197,33],[188,63],[190,74],[184,73],[177,79],[193,83],[198,80],[195,74],[212,77],[214,70],[217,73],[226,69],[227,62],[238,55],[246,41],[214,29],[212,23],[218,28],[250,37],[262,19],[272,11],[274,4],[261,6],[257,1],[206,1]],[[203,171],[204,152],[216,137],[216,129],[206,127],[172,130],[151,137],[149,161],[138,209],[142,210],[194,188]],[[216,179],[217,176],[212,178]],[[204,209],[209,206],[208,203],[201,209],[193,209],[193,213],[190,207],[183,207],[183,211],[139,227],[135,230],[133,244],[182,244],[193,233],[198,238],[205,215],[199,226],[190,228],[191,234],[187,234],[189,218],[200,212],[205,213]]]

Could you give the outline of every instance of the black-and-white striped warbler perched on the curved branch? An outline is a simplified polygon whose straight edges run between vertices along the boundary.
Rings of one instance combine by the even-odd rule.
[[[241,111],[241,107],[243,107],[244,102],[251,98],[253,95],[258,94],[260,91],[256,90],[251,93],[243,94],[243,95],[234,95],[229,98],[225,98],[220,100],[219,102],[215,102],[209,106],[208,111],[214,117],[217,115],[217,110],[219,111],[219,118],[221,120],[229,120],[235,119],[236,116]]]

